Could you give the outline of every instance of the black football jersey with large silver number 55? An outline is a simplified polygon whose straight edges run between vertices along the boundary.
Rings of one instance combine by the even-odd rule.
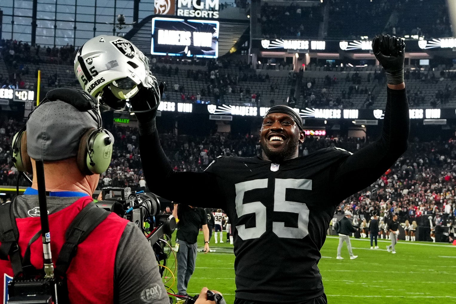
[[[327,148],[280,164],[219,157],[206,169],[234,232],[237,298],[296,302],[324,292],[317,264],[341,201],[332,175],[349,155]]]

